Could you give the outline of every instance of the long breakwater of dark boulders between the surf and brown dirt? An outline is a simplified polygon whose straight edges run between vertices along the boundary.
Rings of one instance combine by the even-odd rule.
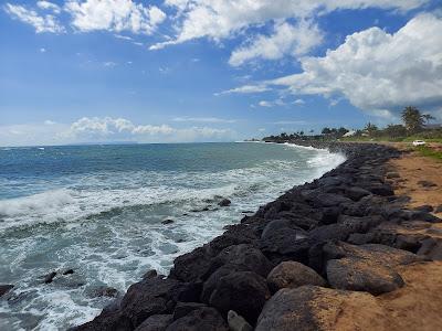
[[[386,162],[399,151],[315,147],[347,161],[178,257],[168,277],[150,273],[75,330],[387,329],[376,296],[406,286],[399,268],[432,252],[428,236],[392,228],[442,221],[404,210],[407,197],[385,180]],[[362,309],[355,314],[351,307]]]

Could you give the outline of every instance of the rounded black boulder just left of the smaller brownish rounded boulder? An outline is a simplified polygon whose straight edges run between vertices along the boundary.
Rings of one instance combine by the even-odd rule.
[[[221,277],[210,296],[210,306],[220,311],[234,310],[254,323],[270,298],[263,277],[251,271],[236,271]]]

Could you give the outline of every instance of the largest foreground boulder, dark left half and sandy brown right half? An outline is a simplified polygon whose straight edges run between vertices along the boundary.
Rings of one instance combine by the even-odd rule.
[[[255,331],[387,330],[375,297],[316,286],[284,288],[264,306]]]

